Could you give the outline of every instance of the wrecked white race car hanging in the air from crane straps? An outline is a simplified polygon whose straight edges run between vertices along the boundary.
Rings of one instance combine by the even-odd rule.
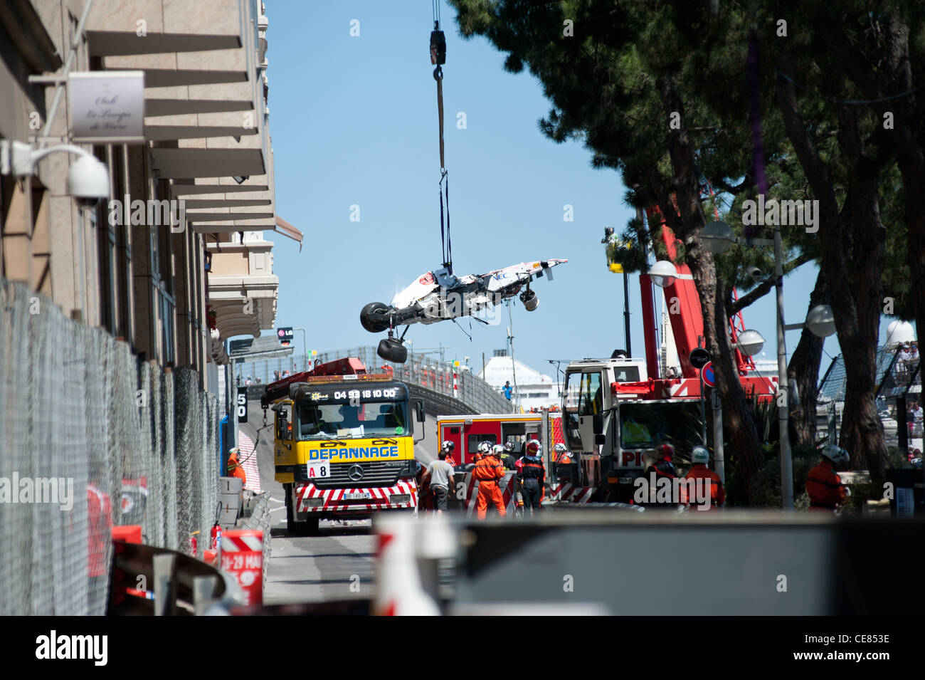
[[[376,351],[386,361],[403,364],[408,358],[404,347],[405,328],[401,338],[394,338],[394,329],[411,324],[433,324],[438,321],[473,316],[487,323],[476,313],[512,298],[520,292],[521,302],[528,312],[539,304],[530,281],[542,276],[552,280],[552,267],[568,260],[536,260],[506,266],[487,274],[456,277],[449,267],[426,272],[392,298],[391,304],[369,303],[360,312],[360,323],[370,333],[388,330],[388,338],[379,342]],[[525,286],[525,288],[524,288]],[[524,291],[521,291],[524,288]]]

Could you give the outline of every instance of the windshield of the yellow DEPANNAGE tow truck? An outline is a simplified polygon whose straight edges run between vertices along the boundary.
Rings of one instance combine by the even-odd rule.
[[[360,439],[412,434],[407,402],[299,402],[299,439]]]

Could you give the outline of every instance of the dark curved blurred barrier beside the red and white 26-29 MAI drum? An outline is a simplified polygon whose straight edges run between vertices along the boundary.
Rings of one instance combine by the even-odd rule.
[[[110,616],[226,614],[243,602],[237,582],[176,550],[113,541]]]

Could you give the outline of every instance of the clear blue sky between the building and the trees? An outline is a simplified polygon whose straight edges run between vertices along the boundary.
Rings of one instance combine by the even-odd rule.
[[[359,323],[365,303],[388,303],[439,266],[439,155],[436,85],[428,42],[429,2],[267,0],[270,131],[277,214],[305,234],[302,253],[266,232],[279,277],[277,326],[307,329],[308,349],[375,345],[383,334]],[[504,56],[485,39],[463,41],[455,12],[443,6],[445,152],[450,171],[453,265],[484,273],[525,260],[568,258],[552,282],[536,282],[539,307],[515,303],[518,360],[555,376],[548,359],[610,356],[623,348],[623,277],[612,274],[600,239],[632,217],[612,170],[590,167],[579,142],[556,144],[536,127],[549,111],[538,81],[503,70]],[[351,20],[359,37],[351,37]],[[466,129],[457,128],[464,112]],[[351,222],[351,205],[360,221]],[[563,221],[563,206],[573,221]],[[816,278],[801,267],[784,284],[785,316],[806,315]],[[632,341],[643,356],[638,278],[630,277]],[[472,324],[470,341],[452,322],[416,325],[413,347],[442,345],[447,359],[506,346],[507,314],[498,326]],[[745,311],[746,327],[776,356],[774,297]],[[882,321],[881,338],[890,319]],[[470,332],[468,320],[460,324]],[[298,336],[299,334],[297,334]],[[296,338],[296,340],[301,340]],[[788,355],[799,340],[787,333]],[[301,349],[301,341],[298,343]],[[829,356],[837,340],[825,343]]]

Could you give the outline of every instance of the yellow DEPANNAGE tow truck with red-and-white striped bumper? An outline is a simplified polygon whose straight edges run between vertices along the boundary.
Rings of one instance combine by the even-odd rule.
[[[322,519],[416,510],[414,425],[425,420],[424,403],[404,383],[349,358],[279,380],[261,402],[275,414],[291,534],[314,535]]]

